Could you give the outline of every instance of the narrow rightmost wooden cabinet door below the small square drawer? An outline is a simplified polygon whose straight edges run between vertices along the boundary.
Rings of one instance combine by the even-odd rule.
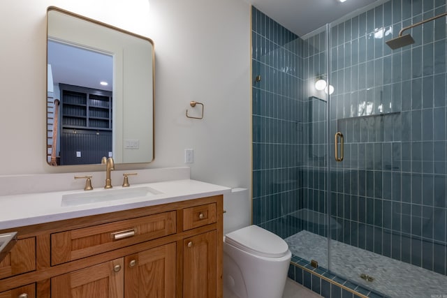
[[[216,297],[217,231],[183,241],[183,297]]]

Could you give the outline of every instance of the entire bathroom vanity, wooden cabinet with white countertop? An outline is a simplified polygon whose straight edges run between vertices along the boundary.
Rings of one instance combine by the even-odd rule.
[[[148,200],[68,206],[64,192],[6,196],[2,209],[26,210],[22,218],[0,217],[0,233],[18,236],[0,262],[0,298],[222,297],[229,189],[193,180],[150,187],[159,193]],[[45,195],[47,206],[38,207]]]

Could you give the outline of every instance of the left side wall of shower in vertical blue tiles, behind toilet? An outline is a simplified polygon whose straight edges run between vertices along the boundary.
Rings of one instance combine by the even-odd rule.
[[[302,40],[252,9],[253,222],[288,237],[302,229],[287,216],[302,207]]]

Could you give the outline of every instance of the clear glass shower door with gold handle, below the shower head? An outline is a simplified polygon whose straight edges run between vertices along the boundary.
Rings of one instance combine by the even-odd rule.
[[[329,269],[390,297],[447,295],[446,20],[385,43],[445,6],[397,2],[330,28]]]

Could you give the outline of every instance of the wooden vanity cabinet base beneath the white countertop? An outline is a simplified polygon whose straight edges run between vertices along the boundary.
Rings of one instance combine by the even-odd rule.
[[[222,215],[217,195],[15,228],[35,251],[7,262],[34,267],[0,267],[0,298],[222,298]]]

